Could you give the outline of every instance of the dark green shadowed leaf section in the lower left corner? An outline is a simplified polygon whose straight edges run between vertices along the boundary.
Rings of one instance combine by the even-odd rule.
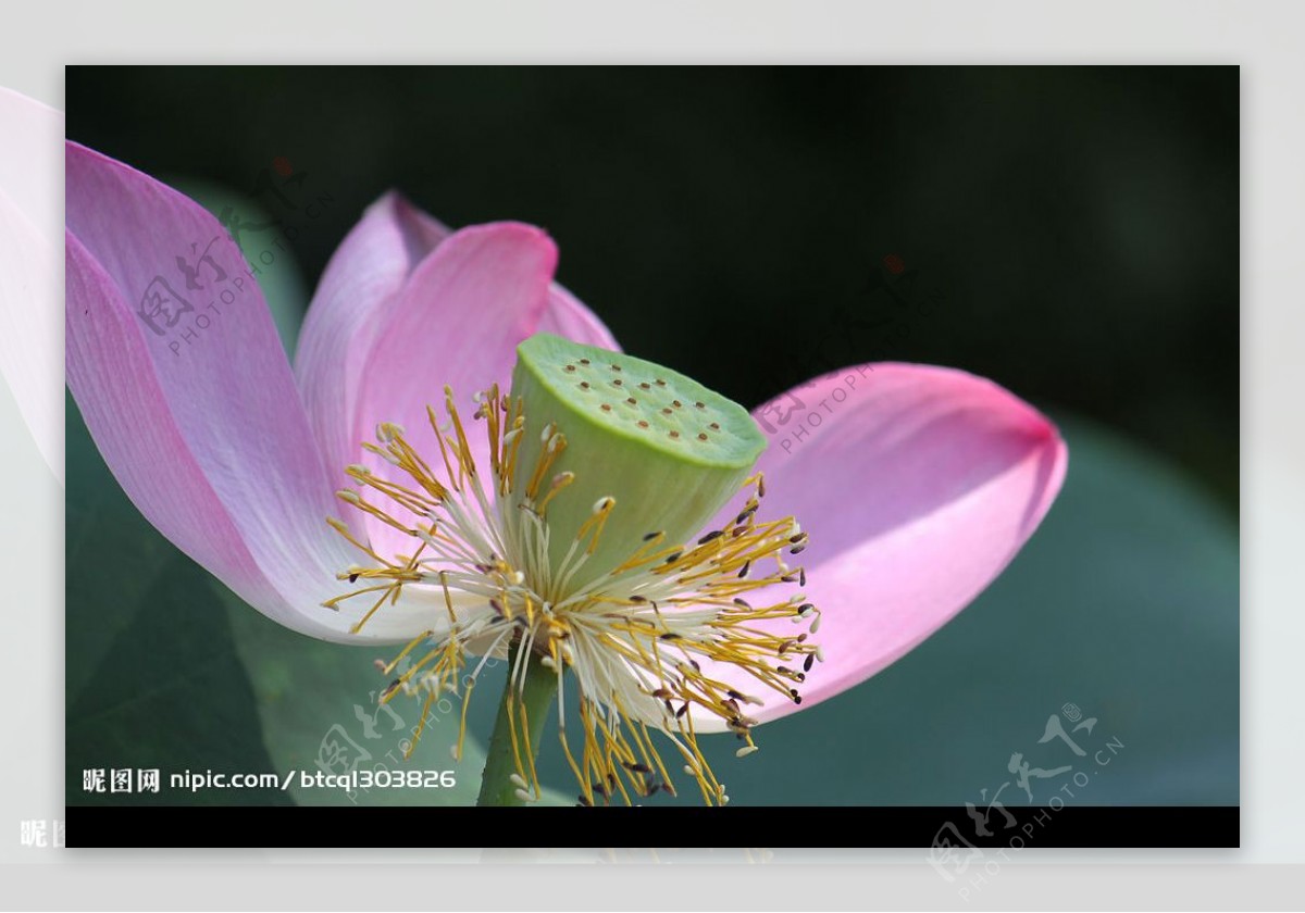
[[[69,802],[179,803],[168,773],[275,770],[211,578],[132,506],[68,397],[65,772]],[[158,793],[82,789],[84,770],[159,770]],[[202,790],[196,805],[269,805],[277,790]]]

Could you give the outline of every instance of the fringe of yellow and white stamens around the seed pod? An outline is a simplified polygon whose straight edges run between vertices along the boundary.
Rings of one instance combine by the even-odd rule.
[[[454,756],[461,758],[479,672],[478,666],[463,676],[468,644],[518,644],[505,706],[513,783],[519,796],[542,796],[530,719],[518,691],[526,655],[534,652],[544,657],[538,661],[556,670],[559,695],[568,669],[579,687],[578,726],[566,726],[559,696],[559,741],[579,784],[582,805],[633,803],[659,790],[675,793],[654,730],[680,754],[706,803],[728,802],[699,750],[697,725],[703,719],[722,720],[743,742],[736,751],[743,758],[757,750],[752,737],[756,720],[746,710],[761,703],[748,691],[800,703],[797,686],[813,663],[822,659],[820,648],[808,643],[820,622],[818,609],[800,592],[778,601],[774,596],[758,599],[758,605],[748,599],[762,591],[770,593],[776,584],[805,586],[805,571],[790,567],[784,556],[800,553],[806,535],[792,518],[756,519],[766,493],[758,472],[745,483],[753,490],[744,507],[722,528],[688,544],[667,543],[664,533],[649,532],[629,544],[629,556],[611,571],[570,586],[572,570],[594,554],[600,537],[622,535],[613,532],[619,527],[609,523],[619,510],[616,500],[604,497],[594,505],[565,561],[552,566],[547,507],[555,498],[569,497],[568,488],[576,479],[573,472],[552,471],[566,438],[552,425],[531,432],[521,402],[501,395],[497,387],[476,402],[474,417],[485,423],[489,443],[492,485],[484,483],[488,494],[453,391],[446,387],[448,430],[440,429],[436,411],[427,410],[442,472],[422,459],[402,428],[385,423],[377,428],[377,443],[367,445],[367,450],[398,468],[406,480],[351,466],[346,471],[358,490],[339,492],[343,503],[408,536],[414,543],[411,554],[381,557],[345,523],[329,520],[375,562],[341,573],[341,579],[363,586],[326,603],[338,609],[355,596],[376,596],[354,623],[354,631],[385,605],[397,604],[405,588],[438,591],[444,597],[448,627],[441,625],[414,638],[382,666],[390,676],[416,655],[420,644],[431,647],[381,698],[388,702],[399,691],[425,690],[408,753],[425,732],[433,702],[448,691],[462,695],[453,747]],[[512,480],[527,433],[540,433],[545,446],[539,449],[525,489],[514,492]],[[364,497],[367,489],[377,500]],[[809,630],[790,633],[780,627],[787,623]],[[715,677],[720,673],[706,669],[733,672],[727,682]],[[740,690],[744,681],[763,689]],[[578,751],[568,738],[568,732],[577,728]]]

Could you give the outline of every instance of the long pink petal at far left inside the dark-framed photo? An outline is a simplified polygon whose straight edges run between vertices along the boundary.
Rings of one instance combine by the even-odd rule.
[[[193,201],[74,143],[67,223],[68,386],[123,489],[265,614],[358,640],[351,613],[318,605],[356,558],[325,523],[333,486],[236,245]]]

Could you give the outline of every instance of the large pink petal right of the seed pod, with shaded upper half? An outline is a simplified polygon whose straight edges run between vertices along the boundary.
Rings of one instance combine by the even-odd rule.
[[[869,678],[974,600],[1065,477],[1054,425],[960,370],[848,368],[753,416],[771,443],[758,463],[761,516],[796,516],[810,536],[790,561],[805,566],[805,592],[822,610],[810,639],[825,663],[808,673],[803,707]],[[749,690],[766,699],[758,720],[797,710],[754,682]]]

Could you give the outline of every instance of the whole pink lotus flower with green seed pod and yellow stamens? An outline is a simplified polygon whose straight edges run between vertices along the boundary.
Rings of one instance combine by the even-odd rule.
[[[483,802],[538,798],[556,690],[581,803],[675,789],[650,733],[723,803],[699,736],[748,754],[908,652],[1064,479],[1047,419],[946,368],[851,367],[749,417],[622,353],[539,228],[450,231],[394,194],[291,368],[197,203],[74,143],[67,181],[68,385],[123,489],[279,623],[406,643],[385,699],[470,696],[510,652]],[[767,446],[795,403],[805,433]]]

